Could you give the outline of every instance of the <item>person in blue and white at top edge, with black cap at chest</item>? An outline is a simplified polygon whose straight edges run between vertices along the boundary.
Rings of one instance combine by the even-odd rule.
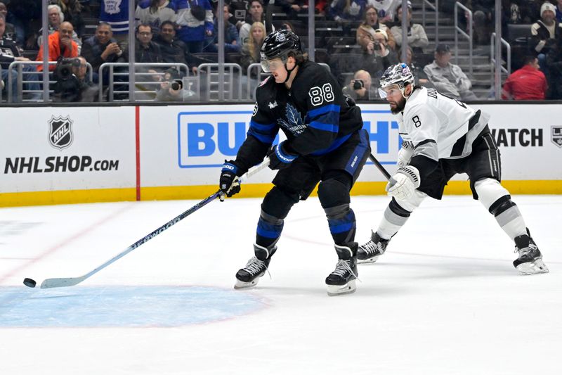
[[[203,51],[205,37],[213,34],[213,12],[209,0],[178,0],[178,38],[190,53]]]

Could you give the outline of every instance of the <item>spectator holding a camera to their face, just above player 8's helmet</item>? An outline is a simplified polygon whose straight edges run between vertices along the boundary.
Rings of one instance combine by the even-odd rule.
[[[367,70],[371,77],[379,78],[386,68],[395,64],[398,64],[398,56],[388,48],[388,34],[382,29],[374,30],[372,42],[367,43],[363,51],[362,68]]]

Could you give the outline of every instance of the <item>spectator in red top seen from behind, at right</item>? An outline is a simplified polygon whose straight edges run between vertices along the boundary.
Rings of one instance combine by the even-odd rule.
[[[504,83],[502,99],[544,100],[547,94],[547,78],[540,71],[539,60],[526,56],[523,68],[511,73]]]

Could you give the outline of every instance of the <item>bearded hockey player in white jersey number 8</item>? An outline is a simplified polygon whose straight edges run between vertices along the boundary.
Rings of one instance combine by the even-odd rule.
[[[410,68],[400,63],[381,77],[381,97],[398,115],[403,148],[398,170],[386,185],[392,197],[371,240],[358,249],[358,262],[374,262],[426,196],[440,199],[457,173],[469,175],[474,199],[495,216],[514,240],[514,267],[523,274],[548,272],[521,212],[501,181],[501,160],[488,128],[489,115],[461,101],[414,84]]]

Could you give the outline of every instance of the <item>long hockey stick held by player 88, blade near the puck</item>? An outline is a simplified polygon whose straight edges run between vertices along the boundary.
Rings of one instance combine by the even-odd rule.
[[[268,165],[269,165],[269,158],[265,158],[265,159],[263,159],[263,162],[261,164],[250,168],[250,170],[248,172],[246,172],[245,174],[240,176],[237,180],[239,182],[242,182],[243,180],[253,176],[257,172],[263,170],[263,168],[267,167]],[[169,222],[166,222],[166,224],[162,225],[162,227],[159,227],[158,229],[155,229],[154,231],[150,232],[150,234],[148,234],[148,235],[144,236],[142,239],[136,241],[131,246],[129,246],[128,248],[123,250],[121,253],[115,255],[115,257],[111,258],[110,260],[107,260],[107,262],[103,263],[103,265],[100,265],[99,267],[96,267],[95,269],[92,269],[87,274],[84,274],[84,275],[79,276],[79,277],[57,277],[57,278],[53,278],[53,279],[45,279],[43,281],[43,283],[41,283],[41,289],[60,288],[61,286],[73,286],[73,285],[81,283],[82,281],[91,277],[93,274],[96,274],[97,272],[101,271],[102,269],[104,269],[108,265],[112,264],[116,260],[119,260],[120,258],[123,258],[125,255],[131,253],[131,251],[138,248],[138,246],[141,246],[143,243],[148,242],[151,239],[155,238],[156,236],[161,234],[166,229],[169,229],[169,227],[171,227],[172,225],[177,224],[181,220],[185,219],[185,217],[188,217],[193,212],[202,208],[204,205],[207,205],[207,203],[209,203],[211,201],[214,201],[216,198],[221,196],[222,193],[223,192],[219,190],[216,193],[212,194],[211,196],[205,198],[203,201],[201,201],[200,203],[197,203],[196,205],[194,205],[189,210],[187,210],[187,211],[181,213],[180,215],[174,217],[174,219],[170,220]]]

